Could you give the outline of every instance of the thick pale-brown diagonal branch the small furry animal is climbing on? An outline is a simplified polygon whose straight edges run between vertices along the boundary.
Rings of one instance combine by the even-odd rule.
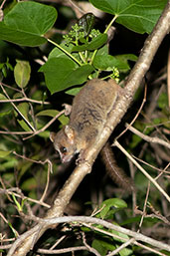
[[[145,41],[144,47],[141,51],[138,61],[132,69],[126,86],[124,88],[124,95],[117,100],[114,110],[111,112],[106,127],[103,129],[100,138],[92,148],[89,148],[86,153],[85,162],[79,164],[70,178],[66,181],[64,188],[59,192],[53,207],[47,212],[46,218],[60,217],[63,215],[66,206],[75,193],[77,187],[80,185],[85,175],[90,172],[92,163],[96,158],[98,152],[108,139],[113,128],[120,122],[126,113],[130,103],[133,100],[136,90],[148,71],[154,55],[160,46],[163,38],[170,30],[170,1],[168,1],[161,17],[159,18],[153,32]],[[8,256],[24,256],[32,249],[36,241],[43,235],[43,233],[53,228],[54,224],[39,223],[29,231],[22,234],[12,245],[8,252]]]

